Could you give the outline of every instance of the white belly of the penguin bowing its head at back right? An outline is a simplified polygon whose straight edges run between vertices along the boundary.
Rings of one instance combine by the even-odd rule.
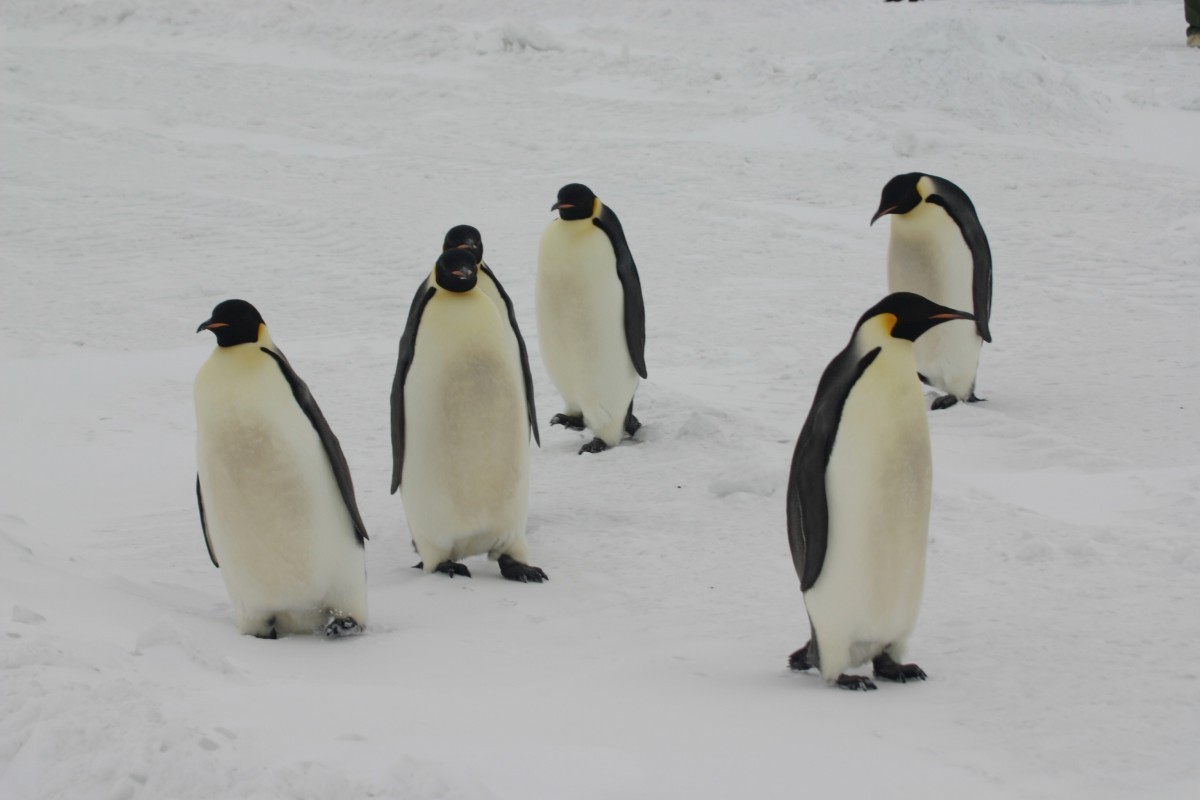
[[[936,206],[920,206],[920,215],[917,219],[892,219],[888,290],[913,291],[943,306],[973,312],[974,261],[962,234]],[[943,219],[931,218],[932,215]],[[974,321],[944,323],[913,343],[917,372],[934,386],[965,399],[974,386],[982,348],[983,338]]]

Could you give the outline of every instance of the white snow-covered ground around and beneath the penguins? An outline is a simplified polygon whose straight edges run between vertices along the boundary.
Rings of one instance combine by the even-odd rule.
[[[1183,40],[1177,0],[4,0],[0,798],[1196,796]],[[930,417],[930,680],[850,693],[785,668],[784,488],[912,170],[979,209],[995,344],[988,402]],[[641,270],[646,427],[542,427],[551,583],[425,576],[388,494],[408,300],[478,225],[547,420],[572,180]],[[230,296],[354,469],[367,636],[236,634],[192,493]]]

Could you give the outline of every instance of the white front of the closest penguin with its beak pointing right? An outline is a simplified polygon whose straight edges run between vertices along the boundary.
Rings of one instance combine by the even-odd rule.
[[[929,428],[911,360],[886,355],[846,398],[826,469],[828,543],[804,604],[827,680],[884,648],[902,657],[924,587]]]

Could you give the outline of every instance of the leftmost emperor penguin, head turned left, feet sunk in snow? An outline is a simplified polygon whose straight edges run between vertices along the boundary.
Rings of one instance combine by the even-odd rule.
[[[196,499],[242,633],[358,633],[366,527],[341,444],[258,309],[226,300],[196,332]]]

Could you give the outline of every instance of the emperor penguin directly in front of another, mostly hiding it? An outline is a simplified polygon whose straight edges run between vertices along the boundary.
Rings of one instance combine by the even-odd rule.
[[[505,578],[541,583],[526,543],[533,381],[511,307],[502,314],[479,271],[469,248],[446,249],[409,311],[391,387],[391,492],[426,572],[470,577],[458,560],[487,553]]]

